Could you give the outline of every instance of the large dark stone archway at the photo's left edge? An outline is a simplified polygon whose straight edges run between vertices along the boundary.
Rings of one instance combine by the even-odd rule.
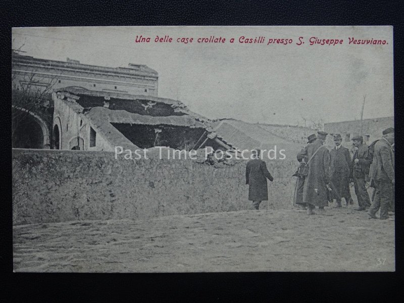
[[[16,127],[13,129],[13,148],[51,148],[51,137],[46,122],[23,108],[14,107],[14,109],[29,115],[26,115],[23,121],[14,122]]]

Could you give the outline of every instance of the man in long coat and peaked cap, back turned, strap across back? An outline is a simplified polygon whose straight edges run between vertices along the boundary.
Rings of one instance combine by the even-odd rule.
[[[330,153],[323,146],[326,136],[326,132],[319,131],[317,140],[306,147],[309,174],[303,188],[303,201],[308,205],[308,215],[316,214],[314,212],[316,206],[319,208],[319,215],[328,215],[324,211],[324,207],[328,206],[328,184],[330,182]]]

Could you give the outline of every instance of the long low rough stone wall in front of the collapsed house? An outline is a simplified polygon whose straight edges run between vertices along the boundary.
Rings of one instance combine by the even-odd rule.
[[[114,159],[106,151],[13,149],[13,224],[247,209],[245,162]],[[271,208],[291,208],[295,160],[268,162]],[[265,204],[264,204],[265,205]]]

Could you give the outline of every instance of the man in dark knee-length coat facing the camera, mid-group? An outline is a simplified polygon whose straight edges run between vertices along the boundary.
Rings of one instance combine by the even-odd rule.
[[[330,151],[330,185],[333,198],[337,206],[341,206],[341,198],[345,199],[346,206],[354,204],[349,191],[349,174],[351,159],[349,149],[341,145],[340,134],[334,134],[335,147]]]

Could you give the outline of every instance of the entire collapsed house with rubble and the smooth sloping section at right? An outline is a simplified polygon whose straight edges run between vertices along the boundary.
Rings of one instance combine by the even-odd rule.
[[[116,146],[130,150],[164,146],[189,151],[209,146],[217,152],[235,153],[243,149],[275,148],[271,157],[277,157],[273,159],[282,159],[281,149],[287,157],[294,158],[299,149],[296,143],[259,125],[238,120],[212,121],[168,98],[70,86],[55,91],[53,101],[52,137],[56,149],[115,151]],[[200,163],[215,167],[233,164],[226,160],[229,157],[225,153],[219,161],[202,154],[197,154]]]

